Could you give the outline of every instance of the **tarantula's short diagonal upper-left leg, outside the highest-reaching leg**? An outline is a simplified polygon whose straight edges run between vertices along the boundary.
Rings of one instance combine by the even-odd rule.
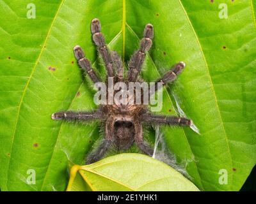
[[[74,54],[78,61],[78,64],[81,66],[81,68],[84,71],[86,71],[86,73],[88,73],[88,76],[91,78],[93,83],[100,82],[99,77],[97,77],[95,71],[93,71],[93,69],[92,69],[90,61],[85,58],[84,52],[79,45],[74,47]]]

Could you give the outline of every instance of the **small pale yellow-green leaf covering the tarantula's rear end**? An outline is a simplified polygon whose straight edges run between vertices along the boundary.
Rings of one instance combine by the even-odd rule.
[[[92,191],[199,191],[167,164],[132,153],[73,166],[67,191],[88,191],[88,187]]]

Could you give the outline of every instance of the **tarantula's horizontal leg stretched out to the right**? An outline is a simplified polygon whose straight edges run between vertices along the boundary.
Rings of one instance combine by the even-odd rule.
[[[191,126],[192,120],[185,117],[165,116],[165,115],[153,115],[151,113],[145,113],[142,115],[142,121],[151,124],[166,124],[169,126]]]

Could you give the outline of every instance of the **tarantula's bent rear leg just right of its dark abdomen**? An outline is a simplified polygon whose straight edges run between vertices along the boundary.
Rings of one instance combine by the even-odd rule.
[[[154,150],[148,145],[147,142],[143,141],[143,128],[140,122],[134,122],[134,131],[135,131],[135,143],[138,148],[148,156],[152,156]]]

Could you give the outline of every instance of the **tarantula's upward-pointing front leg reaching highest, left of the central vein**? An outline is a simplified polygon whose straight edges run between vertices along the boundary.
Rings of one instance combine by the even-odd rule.
[[[97,46],[97,50],[99,51],[104,64],[108,71],[108,77],[114,77],[113,63],[111,59],[111,55],[109,54],[108,47],[106,46],[105,39],[102,33],[100,33],[100,21],[97,18],[92,20],[91,31],[92,31],[92,39]]]

